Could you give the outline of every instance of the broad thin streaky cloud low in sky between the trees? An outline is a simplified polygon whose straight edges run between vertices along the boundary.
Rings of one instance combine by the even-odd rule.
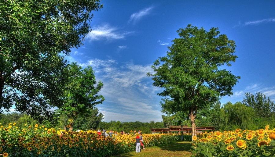
[[[133,62],[119,63],[113,59],[92,59],[82,66],[92,66],[104,87],[101,94],[105,102],[98,109],[105,111],[105,121],[162,121],[160,98],[152,87],[146,72],[153,73],[151,65]],[[138,111],[138,114],[136,114]]]

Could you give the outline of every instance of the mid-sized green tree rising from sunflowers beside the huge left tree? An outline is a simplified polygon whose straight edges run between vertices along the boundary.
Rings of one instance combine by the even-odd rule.
[[[70,130],[72,130],[77,116],[85,114],[95,105],[101,104],[105,98],[98,94],[103,83],[96,82],[91,66],[82,69],[76,63],[72,63],[66,67],[65,73],[66,84],[62,96],[64,105],[58,109],[58,112],[68,116]]]

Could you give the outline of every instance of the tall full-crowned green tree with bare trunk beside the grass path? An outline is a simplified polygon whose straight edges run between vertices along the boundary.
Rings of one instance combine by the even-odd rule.
[[[163,88],[164,105],[173,112],[188,112],[192,126],[192,137],[196,136],[196,114],[220,96],[232,95],[232,87],[240,77],[222,69],[231,66],[235,42],[218,28],[208,32],[202,27],[189,24],[178,31],[179,38],[173,40],[164,57],[157,59],[152,69],[153,86]],[[167,103],[171,102],[171,103]]]

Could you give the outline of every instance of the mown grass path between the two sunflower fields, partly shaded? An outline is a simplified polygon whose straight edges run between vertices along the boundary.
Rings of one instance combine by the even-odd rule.
[[[190,156],[192,154],[190,151],[191,145],[192,142],[181,141],[169,145],[145,147],[140,153],[129,152],[117,156]]]

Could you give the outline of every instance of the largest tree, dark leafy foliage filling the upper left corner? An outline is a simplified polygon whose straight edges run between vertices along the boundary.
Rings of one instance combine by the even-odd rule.
[[[0,2],[0,109],[42,120],[59,100],[63,55],[82,45],[100,0]],[[63,54],[63,55],[61,55]]]

